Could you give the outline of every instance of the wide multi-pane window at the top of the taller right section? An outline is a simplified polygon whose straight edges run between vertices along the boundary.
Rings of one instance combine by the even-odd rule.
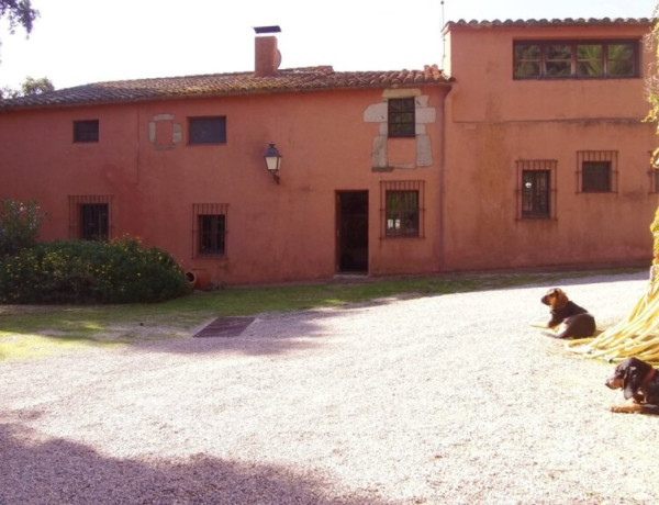
[[[515,79],[638,77],[638,41],[516,41]]]

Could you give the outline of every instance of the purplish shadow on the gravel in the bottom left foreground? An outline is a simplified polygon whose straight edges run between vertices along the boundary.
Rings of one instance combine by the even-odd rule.
[[[300,503],[387,504],[377,496],[328,496],[325,483],[280,465],[196,456],[182,462],[103,457],[64,439],[0,424],[0,504]]]

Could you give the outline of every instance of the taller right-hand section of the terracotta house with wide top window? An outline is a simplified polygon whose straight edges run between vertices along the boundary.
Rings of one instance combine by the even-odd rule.
[[[443,268],[649,265],[647,20],[451,23]]]

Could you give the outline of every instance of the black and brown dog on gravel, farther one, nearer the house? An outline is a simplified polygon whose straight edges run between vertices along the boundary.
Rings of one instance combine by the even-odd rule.
[[[593,315],[571,302],[560,288],[550,289],[540,301],[551,308],[551,318],[547,327],[555,328],[562,324],[562,328],[554,335],[557,338],[585,338],[595,334],[596,325]]]

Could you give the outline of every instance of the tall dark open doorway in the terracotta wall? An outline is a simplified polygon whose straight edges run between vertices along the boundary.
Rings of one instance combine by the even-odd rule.
[[[368,272],[368,191],[336,193],[337,271]]]

